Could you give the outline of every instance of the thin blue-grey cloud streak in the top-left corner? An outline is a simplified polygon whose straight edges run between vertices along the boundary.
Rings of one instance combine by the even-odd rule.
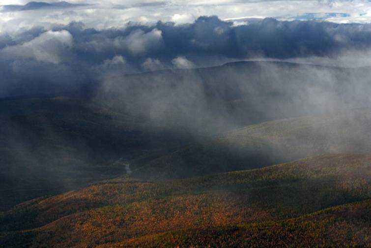
[[[37,2],[30,1],[25,5],[8,4],[2,5],[1,12],[15,12],[15,11],[27,11],[27,10],[38,10],[38,9],[60,9],[60,8],[73,8],[79,6],[86,6],[88,4],[74,4],[66,1],[60,2]]]

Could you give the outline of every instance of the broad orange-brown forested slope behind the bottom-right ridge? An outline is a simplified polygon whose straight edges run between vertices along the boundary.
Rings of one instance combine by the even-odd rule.
[[[95,246],[283,220],[370,197],[371,155],[323,155],[185,180],[97,184],[20,204],[0,226],[6,246]]]

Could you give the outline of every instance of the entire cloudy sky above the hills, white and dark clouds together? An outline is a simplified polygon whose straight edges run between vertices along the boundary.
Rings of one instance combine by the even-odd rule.
[[[52,88],[240,60],[371,66],[369,1],[0,4],[0,96],[25,82]]]

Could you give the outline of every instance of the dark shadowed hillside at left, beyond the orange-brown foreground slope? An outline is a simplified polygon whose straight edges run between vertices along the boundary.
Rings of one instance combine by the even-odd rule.
[[[0,209],[122,175],[119,158],[167,151],[189,139],[69,96],[0,100],[0,126]]]

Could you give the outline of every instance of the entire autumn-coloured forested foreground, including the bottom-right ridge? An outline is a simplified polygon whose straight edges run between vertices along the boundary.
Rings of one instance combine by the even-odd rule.
[[[237,235],[252,244],[309,242],[315,237],[325,246],[332,241],[325,236],[331,230],[348,233],[338,240],[343,244],[369,244],[370,166],[367,154],[322,155],[184,180],[96,184],[3,213],[1,245],[227,246]],[[365,202],[308,216],[358,201]]]

